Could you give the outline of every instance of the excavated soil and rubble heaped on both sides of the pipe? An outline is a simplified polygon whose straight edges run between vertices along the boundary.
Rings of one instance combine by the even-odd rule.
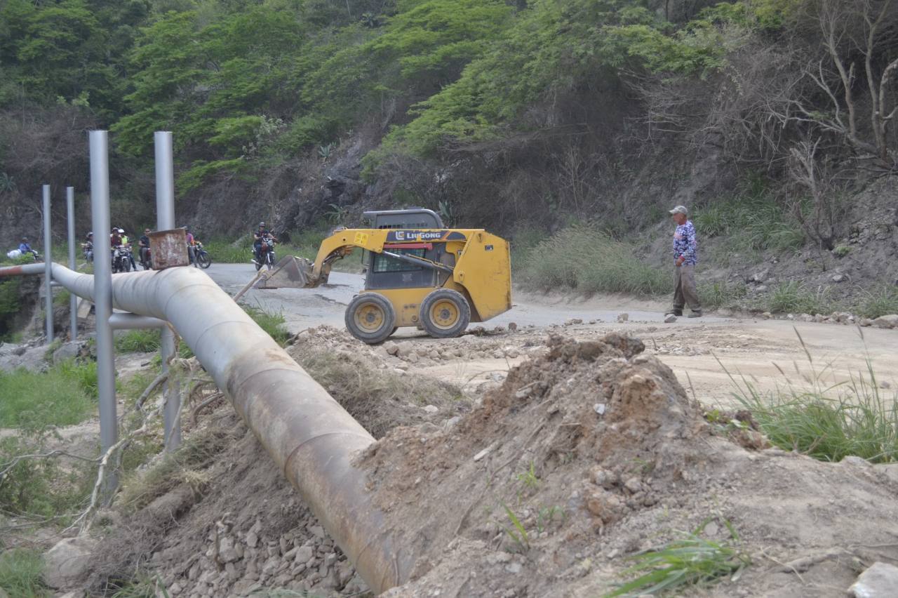
[[[624,580],[629,555],[709,517],[704,536],[726,541],[732,523],[753,565],[708,595],[841,596],[859,568],[898,559],[895,466],[746,450],[715,433],[636,339],[552,336],[471,409],[427,396],[438,384],[408,400],[403,385],[420,376],[387,365],[383,347],[332,329],[304,335],[290,350],[313,375],[318,367],[332,376],[325,388],[358,392],[334,369],[337,355],[352,375],[376,378],[385,397],[379,409],[360,409],[373,395],[349,410],[389,428],[357,465],[384,531],[407,539],[402,550],[417,558],[409,581],[386,595],[601,595]],[[364,593],[260,444],[225,413],[207,425],[233,441],[207,470],[113,518],[92,587],[142,567],[172,596]],[[764,444],[752,433],[741,440]]]

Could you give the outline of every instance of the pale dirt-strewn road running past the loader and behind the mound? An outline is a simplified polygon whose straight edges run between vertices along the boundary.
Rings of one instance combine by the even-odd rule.
[[[207,272],[232,295],[254,273],[249,264],[215,264]],[[269,311],[282,312],[287,328],[294,332],[321,324],[343,328],[344,309],[361,287],[361,275],[334,272],[327,286],[253,289],[244,295],[244,300]],[[489,341],[481,342],[480,347],[462,342],[465,350],[455,351],[462,356],[449,356],[415,367],[453,383],[477,384],[520,363],[526,356],[522,349],[533,344],[534,337],[543,338],[549,332],[558,331],[576,339],[589,339],[604,332],[623,330],[642,339],[647,352],[671,366],[683,387],[690,392],[694,390],[709,405],[727,404],[731,400],[734,387],[726,370],[737,378],[740,374],[745,376],[762,390],[789,383],[804,386],[814,377],[829,386],[866,372],[869,358],[882,386],[898,388],[894,379],[894,373],[898,372],[898,331],[895,330],[714,316],[700,320],[681,318],[665,324],[665,303],[619,296],[582,299],[517,292],[514,304],[510,312],[484,324],[487,330],[504,327],[504,332],[490,334],[485,338]],[[627,313],[629,321],[619,323],[617,318],[621,313]],[[507,330],[511,322],[517,324],[516,333]],[[392,339],[411,343],[420,353],[459,345],[458,340],[437,341],[412,329],[401,329]],[[805,347],[813,363],[809,362]],[[480,350],[475,353],[474,349]],[[501,349],[501,354],[497,349]],[[471,353],[475,356],[467,355]],[[519,356],[509,357],[515,353]],[[892,392],[888,391],[888,396]]]

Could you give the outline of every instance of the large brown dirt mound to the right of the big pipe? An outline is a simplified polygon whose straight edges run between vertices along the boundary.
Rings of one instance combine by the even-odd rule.
[[[387,595],[594,596],[624,581],[626,555],[709,517],[710,539],[725,540],[731,522],[755,561],[720,595],[804,595],[807,567],[796,576],[782,563],[808,555],[814,595],[842,595],[851,558],[898,556],[885,470],[750,453],[713,435],[638,340],[549,346],[453,430],[398,428],[361,457],[418,556]]]

